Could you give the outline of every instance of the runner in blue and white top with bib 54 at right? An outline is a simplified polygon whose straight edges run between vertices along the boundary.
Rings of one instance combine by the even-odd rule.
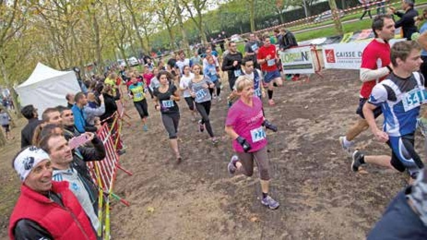
[[[421,47],[415,41],[400,41],[391,49],[393,72],[381,83],[374,86],[371,96],[363,106],[363,114],[374,136],[387,142],[392,156],[366,156],[354,151],[351,169],[355,172],[365,163],[396,169],[408,170],[415,179],[424,167],[415,152],[414,132],[421,104],[427,103],[427,83],[419,72]],[[375,123],[375,111],[381,107],[384,114],[383,130]]]

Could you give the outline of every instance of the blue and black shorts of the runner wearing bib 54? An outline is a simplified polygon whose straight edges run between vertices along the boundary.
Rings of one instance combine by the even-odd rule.
[[[387,144],[392,148],[390,163],[399,172],[408,169],[411,177],[415,177],[423,168],[420,156],[415,152],[414,133],[403,136],[389,136]]]

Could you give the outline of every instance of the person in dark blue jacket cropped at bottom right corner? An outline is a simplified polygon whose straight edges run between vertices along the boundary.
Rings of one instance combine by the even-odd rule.
[[[367,240],[427,239],[427,170],[405,190],[398,193]]]

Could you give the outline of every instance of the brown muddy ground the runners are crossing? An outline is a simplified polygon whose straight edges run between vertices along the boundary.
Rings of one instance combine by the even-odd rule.
[[[199,133],[187,107],[180,103],[179,146],[184,161],[174,163],[167,134],[149,101],[149,132],[142,131],[129,105],[130,127],[124,127],[127,153],[121,165],[133,176],[118,173],[115,192],[131,203],[114,202],[113,239],[161,240],[358,240],[364,239],[388,202],[405,185],[404,176],[374,166],[368,173],[350,170],[351,160],[338,137],[357,119],[357,71],[323,71],[308,82],[286,82],[276,88],[275,107],[266,117],[279,127],[268,133],[272,170],[271,195],[281,206],[260,204],[260,185],[252,178],[228,175],[231,140],[217,147]],[[227,91],[228,93],[228,91]],[[223,95],[225,96],[225,95]],[[213,105],[211,122],[225,136],[225,97]],[[19,129],[15,129],[19,132]],[[357,139],[369,154],[389,154],[389,148],[369,131]],[[423,155],[421,136],[418,152]],[[10,159],[19,141],[1,150],[0,239],[18,191]],[[15,147],[14,147],[15,146]]]

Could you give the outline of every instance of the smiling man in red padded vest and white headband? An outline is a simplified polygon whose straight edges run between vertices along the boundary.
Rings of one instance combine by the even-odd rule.
[[[9,220],[10,239],[97,239],[68,183],[52,181],[52,166],[45,151],[35,146],[23,148],[13,167],[23,184]]]

